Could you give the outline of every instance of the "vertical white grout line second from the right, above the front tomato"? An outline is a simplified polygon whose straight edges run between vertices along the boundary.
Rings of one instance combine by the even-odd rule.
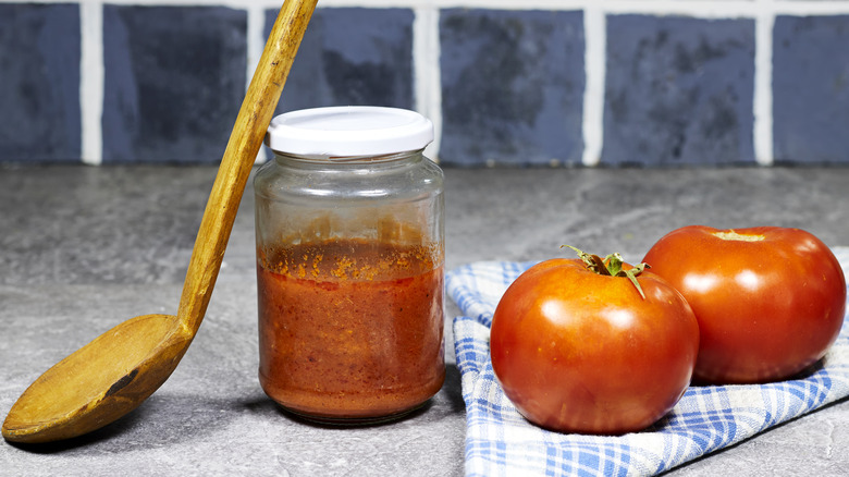
[[[583,86],[583,166],[598,166],[604,145],[604,89],[607,58],[606,17],[602,9],[588,7],[583,11],[586,45]]]

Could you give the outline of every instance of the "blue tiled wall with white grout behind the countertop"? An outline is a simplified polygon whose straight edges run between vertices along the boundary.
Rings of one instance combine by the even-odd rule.
[[[278,112],[418,109],[445,167],[849,166],[849,0],[733,3],[319,4]],[[0,163],[218,162],[279,13],[226,4],[0,0]]]

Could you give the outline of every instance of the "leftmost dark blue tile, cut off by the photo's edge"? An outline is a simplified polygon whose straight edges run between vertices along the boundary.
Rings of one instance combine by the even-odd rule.
[[[79,161],[79,7],[0,4],[0,161]]]

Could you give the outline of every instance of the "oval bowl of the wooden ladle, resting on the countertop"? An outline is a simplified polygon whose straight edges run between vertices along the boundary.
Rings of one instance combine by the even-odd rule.
[[[114,421],[165,382],[192,339],[173,315],[118,325],[33,382],[3,423],[3,437],[50,442]]]

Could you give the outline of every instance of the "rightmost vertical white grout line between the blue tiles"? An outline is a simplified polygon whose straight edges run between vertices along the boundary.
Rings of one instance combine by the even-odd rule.
[[[754,160],[773,163],[773,0],[758,1],[760,13],[754,24]]]

